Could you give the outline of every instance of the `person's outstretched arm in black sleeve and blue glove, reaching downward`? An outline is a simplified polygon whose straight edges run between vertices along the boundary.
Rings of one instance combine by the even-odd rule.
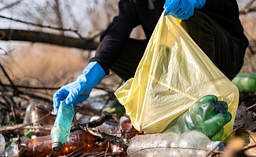
[[[66,104],[76,104],[87,100],[94,86],[97,86],[108,75],[108,69],[114,63],[119,52],[126,45],[133,27],[137,26],[137,15],[133,2],[119,2],[119,16],[116,16],[109,27],[101,35],[101,43],[97,48],[96,56],[84,68],[82,74],[68,85],[62,86],[53,96],[55,114],[60,107],[60,101]]]

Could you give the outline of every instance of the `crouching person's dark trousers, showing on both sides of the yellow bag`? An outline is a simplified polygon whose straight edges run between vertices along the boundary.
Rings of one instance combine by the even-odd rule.
[[[232,37],[221,25],[199,10],[195,10],[188,20],[182,20],[181,26],[224,75],[230,80],[236,76],[243,66],[244,57],[239,38]],[[125,81],[132,78],[147,44],[147,40],[130,38],[111,70]]]

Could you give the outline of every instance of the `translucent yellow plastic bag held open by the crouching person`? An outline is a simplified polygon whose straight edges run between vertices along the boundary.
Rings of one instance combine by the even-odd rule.
[[[207,94],[229,104],[232,131],[239,92],[172,16],[162,16],[132,79],[115,92],[135,129],[160,133]]]

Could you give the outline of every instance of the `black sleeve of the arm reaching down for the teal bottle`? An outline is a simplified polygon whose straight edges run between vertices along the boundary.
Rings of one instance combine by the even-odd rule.
[[[101,64],[105,74],[108,75],[112,64],[126,46],[133,27],[138,24],[133,1],[121,0],[119,2],[119,15],[115,16],[112,24],[101,35],[101,42],[97,47],[95,57],[91,58],[90,61],[97,61]]]

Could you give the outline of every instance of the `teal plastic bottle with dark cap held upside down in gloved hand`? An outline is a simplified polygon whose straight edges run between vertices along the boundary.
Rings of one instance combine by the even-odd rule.
[[[68,141],[74,112],[73,104],[66,104],[65,101],[60,102],[58,115],[51,130],[52,149],[54,152],[60,152],[63,144]]]

